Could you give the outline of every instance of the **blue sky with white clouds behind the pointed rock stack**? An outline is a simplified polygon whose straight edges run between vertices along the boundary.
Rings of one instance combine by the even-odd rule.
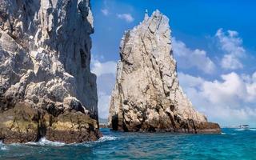
[[[256,2],[93,0],[91,70],[100,118],[108,117],[119,43],[145,10],[170,18],[178,78],[196,110],[221,126],[256,127]]]

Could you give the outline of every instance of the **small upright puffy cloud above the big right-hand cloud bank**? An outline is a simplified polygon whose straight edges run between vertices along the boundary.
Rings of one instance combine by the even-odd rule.
[[[243,66],[240,58],[245,55],[246,50],[242,47],[242,38],[238,37],[238,32],[227,30],[225,33],[222,29],[219,29],[215,37],[218,39],[221,49],[225,52],[221,62],[222,68],[241,69]]]

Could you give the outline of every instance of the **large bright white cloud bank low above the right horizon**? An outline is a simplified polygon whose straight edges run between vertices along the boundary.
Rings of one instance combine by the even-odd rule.
[[[256,126],[256,73],[231,72],[214,81],[183,73],[178,73],[178,77],[194,106],[210,120],[222,125],[250,123]]]

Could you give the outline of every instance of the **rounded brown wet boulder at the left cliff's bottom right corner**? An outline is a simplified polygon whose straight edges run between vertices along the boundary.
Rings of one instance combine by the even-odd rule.
[[[98,122],[82,112],[65,112],[49,122],[46,138],[50,141],[88,142],[102,136],[98,130]]]

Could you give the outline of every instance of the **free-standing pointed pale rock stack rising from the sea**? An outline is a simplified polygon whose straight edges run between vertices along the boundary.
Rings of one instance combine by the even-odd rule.
[[[218,124],[194,110],[179,86],[169,20],[158,10],[129,30],[120,45],[110,100],[113,130],[219,133]]]

